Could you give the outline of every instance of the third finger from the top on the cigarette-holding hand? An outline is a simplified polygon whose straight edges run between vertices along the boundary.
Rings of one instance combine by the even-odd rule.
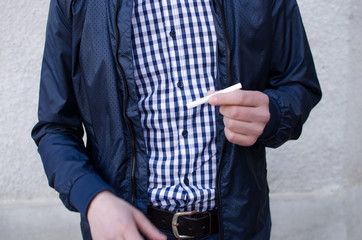
[[[231,132],[243,135],[260,136],[264,131],[264,124],[243,122],[224,117],[224,125]]]

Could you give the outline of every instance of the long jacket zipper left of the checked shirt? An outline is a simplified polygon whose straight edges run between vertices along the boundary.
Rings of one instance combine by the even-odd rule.
[[[122,78],[123,78],[123,83],[124,83],[124,96],[123,96],[123,109],[122,109],[122,116],[123,119],[126,122],[126,126],[127,129],[129,131],[129,134],[131,136],[131,150],[132,150],[132,170],[131,170],[131,185],[132,185],[132,193],[131,193],[131,204],[133,204],[134,199],[135,199],[135,192],[136,192],[136,185],[135,185],[135,168],[136,168],[136,146],[135,146],[135,134],[134,134],[134,129],[131,125],[130,120],[127,117],[126,114],[126,108],[127,108],[127,104],[128,104],[128,97],[129,97],[129,90],[128,90],[128,84],[127,84],[127,79],[126,79],[126,74],[124,72],[124,69],[121,65],[121,63],[119,62],[119,59],[117,57],[118,55],[118,49],[119,49],[119,29],[118,29],[118,24],[117,24],[117,19],[118,19],[118,10],[119,10],[119,5],[120,5],[120,0],[117,0],[117,4],[116,4],[116,8],[115,8],[115,16],[114,16],[114,26],[116,29],[116,53],[115,53],[115,62],[117,64],[117,67],[119,69],[119,71],[121,72]]]

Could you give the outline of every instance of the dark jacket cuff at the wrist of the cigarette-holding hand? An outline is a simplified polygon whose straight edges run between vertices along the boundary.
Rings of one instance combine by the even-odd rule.
[[[270,120],[266,124],[262,135],[259,137],[259,141],[265,143],[269,142],[271,138],[275,135],[278,131],[280,125],[280,110],[279,104],[277,100],[273,97],[269,96],[269,112],[270,112]]]

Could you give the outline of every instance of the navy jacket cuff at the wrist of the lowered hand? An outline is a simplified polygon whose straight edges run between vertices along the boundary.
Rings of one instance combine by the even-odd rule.
[[[90,202],[98,193],[105,190],[114,192],[112,187],[97,174],[83,175],[74,183],[70,191],[70,204],[86,218]]]

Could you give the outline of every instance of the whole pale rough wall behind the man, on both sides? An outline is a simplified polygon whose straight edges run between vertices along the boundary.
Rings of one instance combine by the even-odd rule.
[[[0,238],[80,239],[30,139],[49,1],[0,0]],[[298,141],[268,150],[273,239],[362,235],[362,1],[299,0],[323,88]]]

